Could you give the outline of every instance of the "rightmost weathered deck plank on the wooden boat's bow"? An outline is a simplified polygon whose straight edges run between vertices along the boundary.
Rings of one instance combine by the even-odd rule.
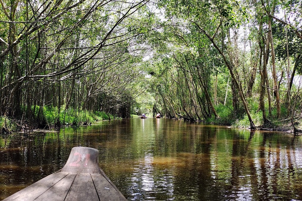
[[[91,174],[91,177],[101,201],[127,200],[114,184],[106,179],[107,176],[104,177],[102,174]]]

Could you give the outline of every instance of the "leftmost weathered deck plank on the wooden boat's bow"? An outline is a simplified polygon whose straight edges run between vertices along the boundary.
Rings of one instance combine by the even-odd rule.
[[[14,193],[13,195],[4,199],[4,201],[10,200],[34,200],[45,191],[50,189],[57,182],[62,180],[69,173],[66,172],[56,172],[48,175],[47,177],[37,181],[36,183],[31,184],[30,186]]]

